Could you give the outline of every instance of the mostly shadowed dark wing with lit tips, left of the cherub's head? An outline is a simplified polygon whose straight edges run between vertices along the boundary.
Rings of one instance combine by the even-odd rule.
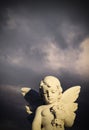
[[[37,91],[28,87],[23,87],[21,88],[21,93],[28,102],[28,105],[25,106],[28,114],[34,113],[36,108],[43,104],[42,99]]]

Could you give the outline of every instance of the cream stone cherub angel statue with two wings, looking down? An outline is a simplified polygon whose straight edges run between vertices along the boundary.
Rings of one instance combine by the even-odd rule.
[[[32,130],[64,130],[74,124],[80,86],[63,92],[57,77],[46,76],[40,82],[39,93],[26,87],[21,92],[29,102],[26,111],[33,115]]]

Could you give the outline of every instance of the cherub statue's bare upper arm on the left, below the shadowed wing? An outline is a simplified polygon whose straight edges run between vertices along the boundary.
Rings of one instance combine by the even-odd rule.
[[[41,107],[36,110],[35,118],[32,123],[32,130],[41,130]]]

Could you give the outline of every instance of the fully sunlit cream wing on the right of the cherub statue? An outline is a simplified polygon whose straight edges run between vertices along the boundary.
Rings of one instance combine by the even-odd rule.
[[[65,126],[72,126],[76,117],[75,111],[78,109],[77,98],[80,93],[80,86],[74,86],[64,91],[60,99],[60,109],[62,117],[65,117]]]

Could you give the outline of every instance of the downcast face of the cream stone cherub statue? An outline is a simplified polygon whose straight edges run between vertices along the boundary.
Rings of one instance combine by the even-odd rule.
[[[46,104],[52,104],[58,101],[59,98],[59,89],[55,86],[48,87],[47,85],[43,86],[43,99]]]

